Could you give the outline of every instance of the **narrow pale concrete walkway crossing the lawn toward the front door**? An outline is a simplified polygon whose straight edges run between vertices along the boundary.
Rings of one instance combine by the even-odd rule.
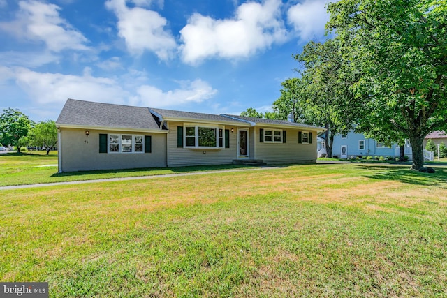
[[[219,173],[226,173],[226,172],[269,170],[269,169],[274,169],[274,168],[277,168],[277,167],[244,167],[242,169],[234,169],[234,170],[216,170],[216,171],[202,171],[202,172],[187,172],[187,173],[178,173],[178,174],[160,174],[160,175],[137,176],[137,177],[106,178],[106,179],[94,179],[94,180],[82,180],[82,181],[66,181],[66,182],[54,182],[54,183],[44,183],[44,184],[0,186],[0,191],[22,189],[22,188],[57,186],[57,185],[75,185],[75,184],[142,180],[142,179],[162,179],[162,178],[170,178],[170,177],[182,177],[182,176],[193,176],[193,175],[203,175],[203,174],[219,174]]]

